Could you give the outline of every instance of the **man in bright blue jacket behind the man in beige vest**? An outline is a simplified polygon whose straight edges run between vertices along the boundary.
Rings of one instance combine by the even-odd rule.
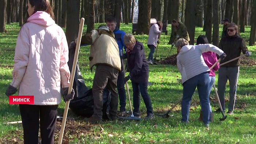
[[[109,17],[106,19],[106,25],[114,32],[115,38],[117,40],[118,48],[119,48],[119,55],[121,56],[120,50],[123,52],[123,48],[126,50],[124,45],[124,35],[125,32],[122,30],[119,30],[119,28],[116,26],[116,18]],[[118,74],[117,77],[117,91],[120,99],[120,111],[125,112],[125,105],[126,105],[126,93],[124,89],[124,72],[123,72],[123,66],[121,65],[121,71]]]

